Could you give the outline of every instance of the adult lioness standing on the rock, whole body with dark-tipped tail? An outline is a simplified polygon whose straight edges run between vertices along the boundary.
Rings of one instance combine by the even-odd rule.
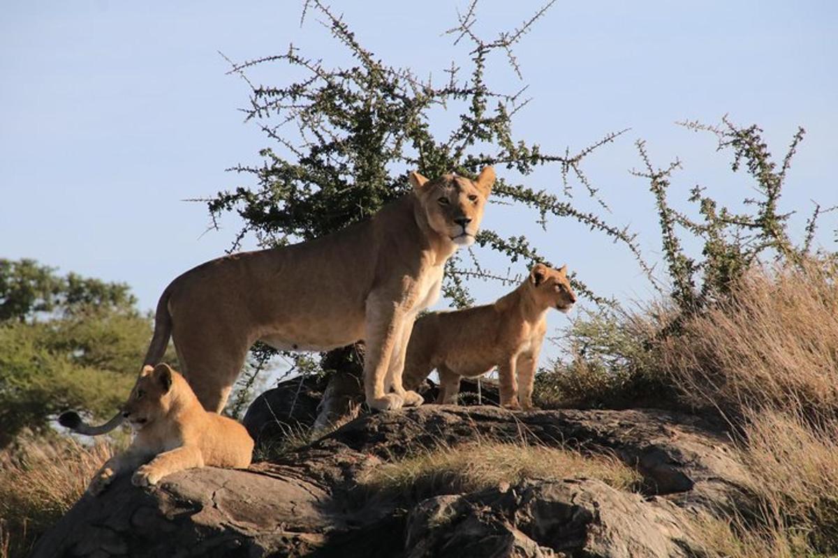
[[[413,191],[375,216],[322,238],[214,259],[174,279],[157,307],[144,363],[174,340],[184,376],[204,408],[220,412],[256,342],[328,351],[365,340],[366,402],[374,409],[419,405],[401,371],[416,314],[439,298],[445,262],[473,243],[494,184],[412,172]],[[121,422],[114,417],[101,433]]]

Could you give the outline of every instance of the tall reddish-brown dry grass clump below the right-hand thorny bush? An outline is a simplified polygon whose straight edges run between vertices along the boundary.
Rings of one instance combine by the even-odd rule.
[[[655,348],[689,402],[747,409],[838,409],[838,269],[753,269],[726,299]]]

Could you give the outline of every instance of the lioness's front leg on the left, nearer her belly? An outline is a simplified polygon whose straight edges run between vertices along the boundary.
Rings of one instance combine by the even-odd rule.
[[[404,404],[398,393],[385,392],[393,348],[404,320],[404,310],[391,297],[370,294],[366,304],[364,392],[367,405],[378,411],[398,409]]]

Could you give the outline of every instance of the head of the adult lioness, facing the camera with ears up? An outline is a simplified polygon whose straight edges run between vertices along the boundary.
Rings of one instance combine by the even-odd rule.
[[[422,202],[428,225],[458,246],[474,242],[483,219],[486,198],[494,184],[494,169],[486,166],[476,180],[451,173],[428,180],[411,172],[410,181]]]

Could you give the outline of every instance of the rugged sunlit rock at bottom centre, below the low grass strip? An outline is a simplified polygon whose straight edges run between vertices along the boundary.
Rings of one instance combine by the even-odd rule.
[[[691,555],[685,513],[597,480],[528,482],[427,499],[407,522],[408,558]]]

